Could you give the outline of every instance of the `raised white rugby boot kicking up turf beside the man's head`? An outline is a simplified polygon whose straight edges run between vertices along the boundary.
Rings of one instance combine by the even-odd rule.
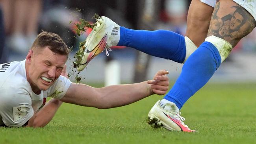
[[[82,71],[89,61],[96,55],[106,50],[111,51],[111,46],[116,46],[120,40],[120,26],[107,17],[100,17],[97,19],[96,26],[86,38],[86,42],[80,52],[80,56],[76,57],[74,63],[78,71]]]

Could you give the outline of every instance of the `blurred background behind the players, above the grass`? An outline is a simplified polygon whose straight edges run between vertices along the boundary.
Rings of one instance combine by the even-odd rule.
[[[186,32],[187,10],[191,0],[0,0],[0,63],[25,59],[38,33],[59,34],[70,48],[68,71],[80,37],[73,31],[80,18],[95,22],[94,14],[111,18],[117,24],[132,29],[171,30],[181,35]],[[255,82],[256,30],[243,38],[217,70],[210,82]],[[175,81],[182,64],[152,57],[133,48],[117,47],[107,57],[102,52],[80,72],[83,83],[139,82],[151,79],[165,69]],[[74,78],[71,78],[74,81]]]

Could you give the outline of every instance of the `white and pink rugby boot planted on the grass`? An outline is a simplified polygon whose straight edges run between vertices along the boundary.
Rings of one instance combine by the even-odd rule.
[[[180,116],[181,112],[175,104],[165,103],[160,106],[159,102],[160,100],[149,111],[148,124],[154,128],[163,127],[170,131],[197,132],[184,124],[185,118]]]

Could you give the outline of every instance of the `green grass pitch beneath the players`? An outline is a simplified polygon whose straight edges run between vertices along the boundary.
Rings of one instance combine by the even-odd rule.
[[[0,128],[0,144],[234,144],[255,143],[256,83],[208,84],[182,108],[199,133],[152,129],[148,111],[162,96],[99,110],[64,103],[44,128]]]

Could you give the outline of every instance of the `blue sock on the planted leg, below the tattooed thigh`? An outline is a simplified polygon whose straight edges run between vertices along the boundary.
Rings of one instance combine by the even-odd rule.
[[[201,89],[221,64],[217,48],[210,42],[203,42],[189,56],[173,88],[164,99],[174,102],[179,109],[195,92]]]

